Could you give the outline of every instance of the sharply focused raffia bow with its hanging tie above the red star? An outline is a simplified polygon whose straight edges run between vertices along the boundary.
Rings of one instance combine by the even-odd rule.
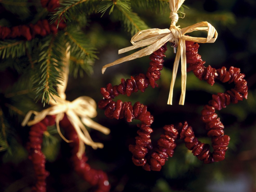
[[[144,49],[141,49],[129,56],[120,58],[112,63],[109,63],[102,68],[102,73],[105,72],[107,67],[117,65],[123,63],[125,61],[133,60],[136,58],[144,57],[152,54],[154,51],[158,50],[161,46],[163,46],[166,42],[175,43],[178,47],[176,58],[173,64],[173,72],[172,72],[172,81],[170,86],[170,93],[167,104],[172,105],[172,96],[173,96],[173,87],[174,82],[177,76],[177,70],[179,61],[181,60],[181,96],[180,96],[180,105],[184,105],[185,101],[185,92],[186,92],[186,49],[185,49],[185,41],[193,41],[196,43],[214,43],[218,37],[218,33],[215,28],[208,22],[200,22],[194,25],[188,26],[186,28],[180,29],[176,26],[178,21],[177,11],[185,0],[169,0],[170,3],[170,18],[172,19],[171,26],[169,29],[147,29],[143,31],[139,31],[136,33],[132,39],[131,43],[133,46],[126,47],[118,51],[118,54],[125,53],[127,51],[137,49],[139,47],[147,46]],[[203,37],[190,37],[185,36],[186,33],[190,33],[192,31],[204,30],[207,31],[207,38]]]

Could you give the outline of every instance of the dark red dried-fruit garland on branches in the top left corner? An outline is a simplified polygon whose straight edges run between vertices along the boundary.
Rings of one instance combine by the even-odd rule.
[[[59,6],[59,1],[56,0],[41,0],[41,4],[43,7],[46,7],[48,11],[52,12],[55,8]],[[50,24],[47,19],[38,20],[36,24],[28,24],[28,25],[17,25],[13,27],[5,27],[0,26],[0,39],[10,39],[23,37],[26,40],[31,40],[36,37],[36,35],[40,35],[42,37],[49,35],[51,33],[56,34],[59,29],[64,29],[66,24],[63,20],[60,21],[58,29],[57,29],[58,21]]]

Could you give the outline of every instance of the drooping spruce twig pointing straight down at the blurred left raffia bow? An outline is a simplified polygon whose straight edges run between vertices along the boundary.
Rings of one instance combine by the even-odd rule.
[[[49,104],[50,97],[58,95],[55,87],[62,79],[62,58],[64,50],[63,39],[58,36],[48,36],[43,39],[41,45],[33,87],[36,89],[36,98],[42,97],[42,103]],[[36,67],[35,66],[35,67]]]

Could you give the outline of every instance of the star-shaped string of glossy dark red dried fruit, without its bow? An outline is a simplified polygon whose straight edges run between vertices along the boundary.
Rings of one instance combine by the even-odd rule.
[[[237,103],[243,98],[247,98],[247,81],[244,79],[245,75],[240,73],[239,68],[230,67],[227,71],[226,67],[220,69],[212,68],[211,66],[205,67],[205,61],[201,59],[198,54],[199,45],[194,42],[186,42],[186,58],[189,66],[187,71],[193,71],[196,77],[200,80],[206,80],[207,83],[213,85],[215,79],[225,83],[234,82],[235,88],[226,91],[225,93],[218,93],[212,95],[212,100],[208,105],[204,106],[201,111],[201,120],[206,123],[206,130],[208,130],[207,136],[212,139],[213,152],[210,152],[210,146],[205,143],[201,143],[195,137],[191,126],[185,121],[184,124],[179,123],[176,127],[174,125],[164,126],[165,134],[160,136],[158,140],[157,149],[146,158],[146,154],[153,148],[151,144],[150,134],[153,132],[150,127],[153,123],[153,115],[147,111],[147,106],[136,102],[133,106],[131,102],[117,102],[112,99],[118,94],[127,94],[141,90],[142,92],[150,84],[152,87],[157,85],[154,81],[160,78],[160,70],[163,67],[163,57],[166,51],[166,45],[161,47],[156,52],[152,53],[150,59],[150,67],[146,73],[139,74],[134,78],[121,79],[121,84],[118,86],[112,86],[107,84],[106,88],[101,88],[101,93],[104,99],[100,100],[98,106],[100,109],[105,109],[105,115],[112,119],[126,118],[128,122],[132,119],[138,119],[141,124],[137,126],[140,128],[137,133],[136,145],[130,145],[129,150],[132,152],[132,161],[136,166],[142,166],[145,170],[159,171],[161,166],[165,164],[168,157],[173,156],[174,148],[176,147],[176,139],[184,139],[185,145],[192,153],[198,157],[199,160],[204,163],[212,163],[222,161],[225,159],[225,153],[230,137],[224,135],[224,125],[221,123],[220,118],[215,113],[215,109],[220,110],[226,107],[231,102]],[[151,79],[151,80],[150,80]]]

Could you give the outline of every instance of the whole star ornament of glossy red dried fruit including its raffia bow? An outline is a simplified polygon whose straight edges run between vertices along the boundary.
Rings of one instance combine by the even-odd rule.
[[[105,110],[105,115],[112,119],[126,118],[128,122],[133,119],[140,120],[138,124],[138,136],[135,137],[136,144],[130,145],[129,150],[132,153],[132,161],[136,166],[142,166],[143,169],[150,171],[159,171],[165,164],[168,157],[172,157],[175,141],[177,139],[184,139],[185,145],[192,153],[204,163],[218,162],[225,159],[225,153],[228,149],[230,137],[224,135],[224,125],[215,113],[215,110],[225,108],[230,103],[236,104],[243,98],[247,99],[247,81],[244,79],[245,75],[240,73],[239,68],[226,67],[215,69],[211,66],[205,67],[205,61],[201,59],[198,54],[199,45],[197,43],[213,43],[218,33],[214,27],[208,22],[200,22],[192,26],[180,29],[176,26],[178,21],[177,11],[184,0],[169,0],[170,3],[170,18],[172,19],[170,29],[149,29],[138,32],[132,37],[133,46],[119,50],[119,53],[124,53],[138,47],[148,47],[139,50],[129,56],[120,58],[102,68],[102,73],[107,67],[123,63],[135,58],[143,57],[151,54],[150,67],[146,75],[139,74],[131,79],[121,79],[121,84],[112,86],[107,84],[106,88],[101,88],[101,94],[104,99],[100,100],[98,106]],[[207,38],[198,38],[185,36],[186,33],[198,30],[205,30],[208,32]],[[212,95],[212,100],[208,105],[204,106],[201,111],[201,120],[206,124],[205,128],[208,131],[207,136],[212,139],[213,152],[210,152],[210,145],[201,143],[195,137],[193,129],[185,121],[184,124],[179,123],[178,126],[166,125],[164,126],[165,133],[160,136],[157,142],[157,147],[150,156],[147,153],[153,149],[150,134],[153,132],[151,124],[154,121],[153,115],[147,111],[147,106],[136,102],[133,106],[131,102],[122,102],[121,100],[113,101],[119,94],[127,94],[137,92],[138,90],[144,92],[149,85],[151,87],[157,86],[156,80],[160,78],[160,71],[163,68],[163,58],[165,57],[166,43],[171,42],[171,45],[178,47],[176,58],[173,66],[173,74],[171,81],[170,94],[167,104],[172,104],[173,86],[177,75],[179,60],[181,60],[181,97],[179,104],[183,105],[185,100],[186,88],[186,70],[193,71],[196,77],[200,80],[207,81],[208,84],[213,85],[218,79],[222,83],[234,83],[235,87],[225,93],[218,93]],[[195,43],[196,42],[196,43]],[[186,69],[186,63],[189,64]]]

